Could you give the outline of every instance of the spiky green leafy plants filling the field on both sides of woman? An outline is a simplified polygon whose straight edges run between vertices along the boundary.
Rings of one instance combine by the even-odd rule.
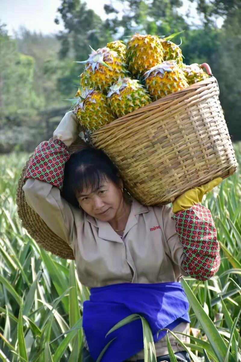
[[[234,147],[240,163],[241,143]],[[15,194],[28,157],[24,153],[0,156],[0,360],[81,361],[82,305],[89,298],[89,290],[78,281],[74,261],[39,248],[21,226]],[[221,266],[208,281],[184,281],[192,292],[188,347],[198,361],[220,361],[208,335],[209,319],[203,313],[219,332],[220,348],[221,341],[229,348],[227,361],[231,355],[234,361],[239,360],[241,321],[233,322],[241,309],[240,199],[238,170],[203,200],[218,231]]]

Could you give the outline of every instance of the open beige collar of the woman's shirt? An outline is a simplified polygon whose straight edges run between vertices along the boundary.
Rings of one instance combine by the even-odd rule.
[[[136,215],[143,214],[144,212],[149,212],[149,208],[147,206],[142,205],[136,199],[133,198],[131,209],[130,209],[130,215],[129,215],[127,223],[126,223],[123,237],[128,233],[128,231],[135,224],[137,224]],[[101,239],[112,240],[112,241],[117,241],[119,243],[122,243],[122,239],[121,239],[120,235],[118,235],[115,232],[115,230],[112,229],[112,227],[110,226],[110,224],[108,222],[95,219],[93,216],[90,216],[88,214],[86,214],[86,215],[87,215],[86,220],[88,220],[95,227],[99,228],[98,236]]]

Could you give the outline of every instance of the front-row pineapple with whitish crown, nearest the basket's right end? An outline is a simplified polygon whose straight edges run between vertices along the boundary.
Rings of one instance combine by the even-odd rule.
[[[165,61],[145,73],[146,88],[153,100],[188,87],[185,75],[174,60]]]

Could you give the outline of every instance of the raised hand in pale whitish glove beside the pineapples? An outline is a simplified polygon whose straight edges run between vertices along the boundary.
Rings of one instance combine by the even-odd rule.
[[[65,113],[59,126],[53,132],[53,138],[63,141],[67,147],[74,142],[81,132],[82,126],[73,111]]]

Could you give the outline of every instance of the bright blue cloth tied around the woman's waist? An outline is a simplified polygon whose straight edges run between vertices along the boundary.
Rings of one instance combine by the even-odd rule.
[[[141,319],[106,334],[120,320],[138,313],[148,321],[154,342],[181,322],[190,323],[188,299],[178,282],[139,284],[121,283],[92,288],[90,300],[83,303],[83,329],[94,360],[113,340],[101,362],[122,362],[143,349]],[[158,334],[158,336],[157,336]]]

